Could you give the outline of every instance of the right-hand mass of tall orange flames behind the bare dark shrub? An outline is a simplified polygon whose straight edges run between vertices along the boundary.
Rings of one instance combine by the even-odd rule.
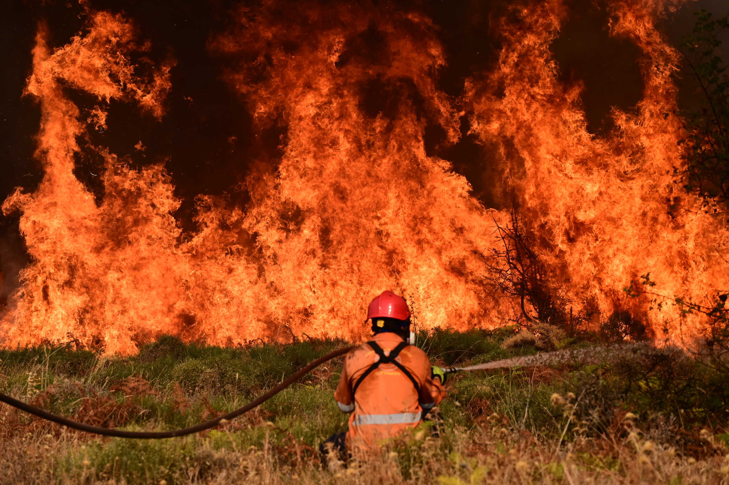
[[[518,20],[502,23],[499,69],[486,83],[469,82],[467,97],[473,132],[499,147],[506,185],[546,241],[543,256],[561,269],[573,298],[593,300],[603,311],[632,305],[647,312],[658,338],[685,344],[701,330],[698,317],[689,316],[682,333],[677,309],[650,309],[644,301],[636,308],[622,296],[644,273],[658,282],[655,292],[694,301],[729,287],[723,221],[702,211],[701,201],[671,175],[682,163],[671,80],[678,53],[655,28],[670,5],[626,0],[609,6],[610,34],[642,51],[645,85],[634,113],[612,110],[617,128],[609,136],[585,129],[580,86],[558,82],[549,47],[566,16],[561,1],[513,7]]]

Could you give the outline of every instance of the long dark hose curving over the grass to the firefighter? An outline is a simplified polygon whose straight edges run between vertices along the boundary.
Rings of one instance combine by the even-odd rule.
[[[324,355],[324,357],[319,357],[319,359],[314,360],[309,365],[307,365],[305,368],[299,370],[293,376],[289,377],[289,379],[286,379],[285,381],[281,382],[281,384],[278,384],[278,386],[274,387],[273,389],[270,389],[270,391],[266,392],[264,395],[258,397],[256,400],[251,401],[250,403],[246,404],[246,406],[238,408],[235,411],[230,411],[230,413],[225,414],[225,416],[220,416],[219,418],[212,419],[211,421],[208,421],[208,422],[195,424],[195,426],[182,428],[182,430],[171,430],[171,431],[112,430],[112,429],[105,428],[105,427],[90,426],[90,424],[83,424],[83,423],[73,421],[71,419],[63,418],[61,416],[56,416],[55,414],[51,414],[48,411],[44,411],[41,408],[36,408],[36,406],[31,406],[30,404],[26,404],[17,399],[13,399],[9,395],[0,394],[0,401],[3,403],[9,404],[10,406],[13,406],[15,408],[18,408],[22,411],[26,411],[26,413],[34,414],[40,418],[47,419],[48,421],[52,421],[52,422],[55,422],[58,424],[63,424],[63,426],[68,426],[68,427],[74,428],[74,430],[93,432],[97,435],[117,436],[119,438],[138,438],[138,439],[143,439],[143,440],[159,439],[159,438],[175,438],[176,436],[191,435],[193,432],[209,430],[210,428],[216,427],[218,424],[221,424],[222,422],[226,422],[230,419],[241,416],[241,414],[245,413],[246,411],[252,410],[253,408],[255,408],[256,406],[259,406],[262,403],[265,403],[265,401],[267,401],[271,397],[277,395],[279,392],[286,389],[286,387],[289,387],[291,384],[294,384],[296,381],[301,379],[310,370],[313,370],[314,368],[319,367],[319,365],[323,364],[324,362],[327,362],[327,360],[332,360],[334,357],[338,357],[342,354],[346,354],[351,349],[354,349],[354,347],[344,347],[343,349],[338,349],[338,350],[335,350],[334,352],[330,352],[329,354]]]

